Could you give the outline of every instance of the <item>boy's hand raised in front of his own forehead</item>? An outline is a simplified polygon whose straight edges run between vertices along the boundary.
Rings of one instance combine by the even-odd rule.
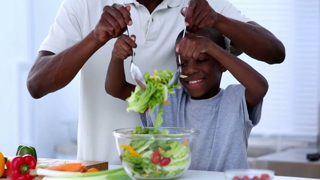
[[[185,36],[175,45],[175,51],[185,58],[197,58],[200,53],[208,50],[210,43],[214,42],[203,36]]]

